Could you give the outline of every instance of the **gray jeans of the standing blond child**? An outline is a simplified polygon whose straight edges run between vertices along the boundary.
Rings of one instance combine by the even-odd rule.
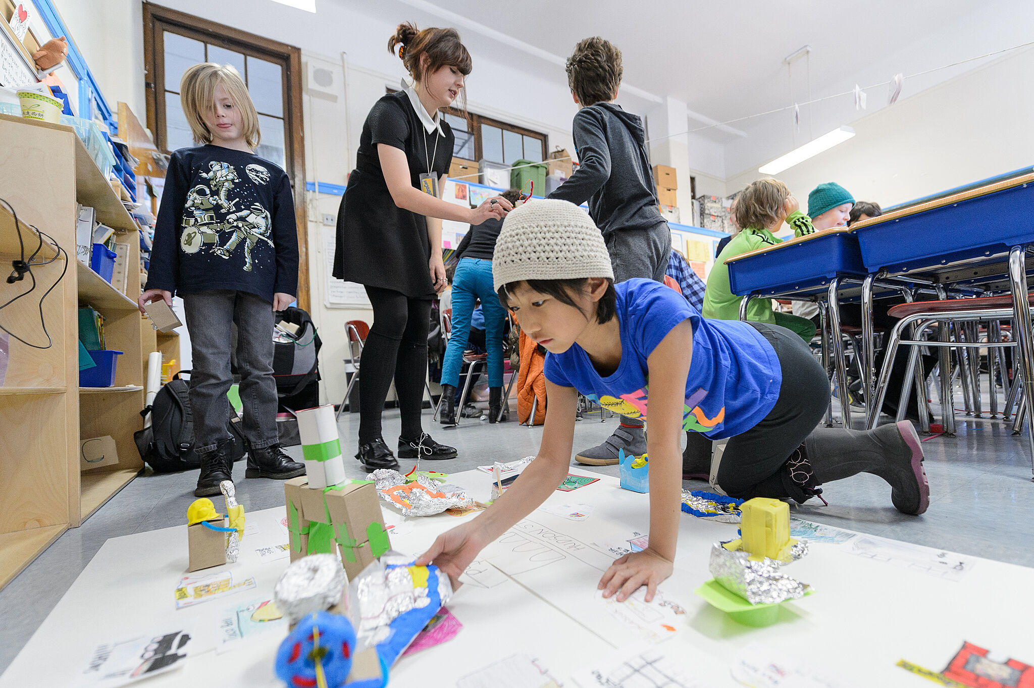
[[[237,324],[237,366],[244,420],[241,431],[255,449],[276,444],[273,379],[273,305],[246,291],[213,289],[183,294],[193,355],[190,412],[194,450],[211,451],[230,438],[231,327]]]

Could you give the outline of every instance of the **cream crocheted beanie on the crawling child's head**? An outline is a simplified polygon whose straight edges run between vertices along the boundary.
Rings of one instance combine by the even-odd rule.
[[[523,280],[614,279],[603,234],[588,213],[567,200],[531,200],[503,221],[492,256],[492,285]]]

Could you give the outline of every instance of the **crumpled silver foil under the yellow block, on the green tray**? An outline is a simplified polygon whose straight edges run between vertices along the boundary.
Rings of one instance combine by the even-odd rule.
[[[793,546],[800,552],[799,556],[808,552],[807,542],[798,542]],[[750,556],[747,552],[730,552],[722,543],[716,542],[711,548],[711,575],[726,590],[739,595],[751,604],[774,604],[787,599],[798,599],[808,592],[808,584],[780,571],[780,562],[767,557],[761,561],[751,561]]]

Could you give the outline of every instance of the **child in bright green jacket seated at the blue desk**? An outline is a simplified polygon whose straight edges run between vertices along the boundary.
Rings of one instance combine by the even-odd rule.
[[[783,182],[770,177],[759,179],[736,196],[736,223],[741,229],[719,254],[707,277],[703,308],[705,318],[739,319],[742,296],[732,293],[729,268],[725,261],[755,249],[782,243],[772,231],[779,229],[784,222],[793,227],[795,237],[815,231],[811,219],[800,212],[797,199],[790,195],[790,189]],[[805,342],[815,337],[814,322],[789,313],[773,312],[771,299],[752,299],[747,307],[747,319],[792,330]]]

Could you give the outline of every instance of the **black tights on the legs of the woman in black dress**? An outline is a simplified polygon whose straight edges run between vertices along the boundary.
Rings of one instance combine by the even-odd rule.
[[[366,295],[373,305],[373,326],[363,348],[359,375],[359,444],[382,435],[381,414],[392,377],[402,412],[402,436],[417,439],[423,432],[420,414],[427,376],[431,301],[372,286],[366,287]]]

